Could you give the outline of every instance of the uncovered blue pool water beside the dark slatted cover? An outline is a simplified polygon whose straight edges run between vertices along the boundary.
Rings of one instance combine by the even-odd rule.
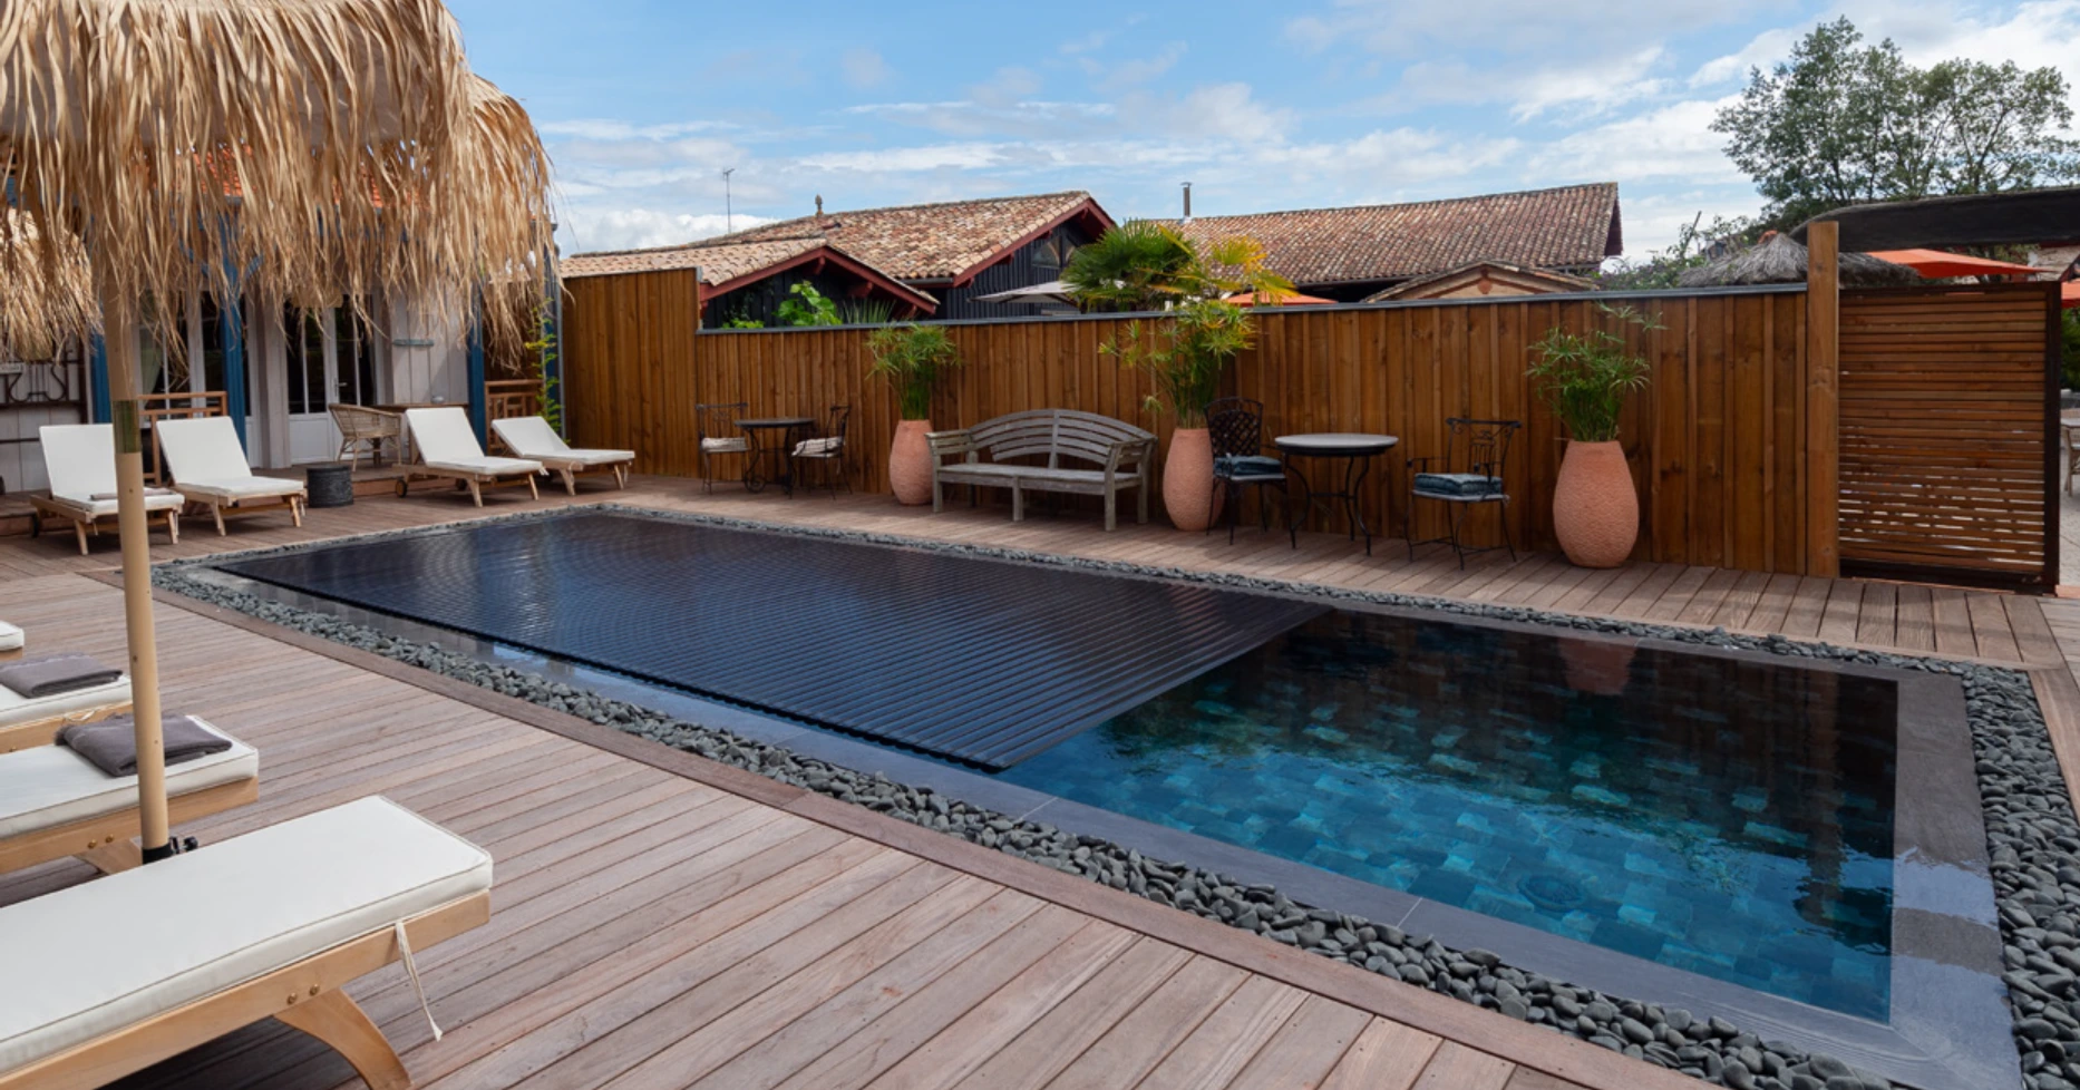
[[[1327,614],[1005,780],[1884,1019],[1897,686]]]

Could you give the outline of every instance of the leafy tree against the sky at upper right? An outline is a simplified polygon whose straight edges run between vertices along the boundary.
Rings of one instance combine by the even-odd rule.
[[[1726,156],[1770,202],[1764,227],[1847,204],[1993,193],[2080,179],[2074,112],[2057,69],[1909,64],[1849,19],[1814,27],[1791,60],[1749,73],[1712,121]]]

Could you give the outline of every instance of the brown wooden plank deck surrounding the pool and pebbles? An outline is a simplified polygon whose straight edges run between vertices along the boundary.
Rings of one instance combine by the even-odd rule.
[[[2038,599],[1706,568],[1579,572],[1489,555],[1466,572],[1342,539],[1225,537],[884,499],[703,497],[641,481],[622,499],[774,522],[1223,568],[1604,616],[1776,630],[2028,666],[2080,709]],[[541,505],[562,503],[547,497]],[[487,512],[528,508],[499,493]],[[476,516],[451,495],[362,499],[196,526],[202,555]],[[114,545],[0,541],[0,616],[33,647],[123,655]],[[2080,612],[2080,603],[2074,605]],[[2080,616],[2057,616],[2080,634]],[[168,709],[262,753],[258,805],[181,832],[218,840],[383,793],[497,859],[493,919],[420,957],[433,1042],[399,969],[354,994],[426,1088],[1294,1088],[1679,1090],[1691,1080],[948,836],[595,728],[387,659],[162,599]],[[2080,645],[2070,643],[2080,651]],[[2047,699],[2047,709],[2053,701]],[[2065,743],[2061,741],[2061,747]],[[2065,753],[2061,751],[2061,757]],[[85,880],[0,878],[0,903]],[[262,1023],[125,1086],[275,1090],[358,1082]]]

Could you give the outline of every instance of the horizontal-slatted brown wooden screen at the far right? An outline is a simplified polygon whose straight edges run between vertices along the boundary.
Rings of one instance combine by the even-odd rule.
[[[2057,582],[2055,285],[1841,300],[1841,560]]]

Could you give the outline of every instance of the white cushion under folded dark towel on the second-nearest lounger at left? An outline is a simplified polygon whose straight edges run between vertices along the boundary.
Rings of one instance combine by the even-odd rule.
[[[202,726],[229,741],[231,749],[166,765],[166,795],[189,795],[260,776],[260,755],[254,747],[210,724]],[[0,753],[0,838],[121,813],[135,805],[135,776],[110,776],[62,745]]]

